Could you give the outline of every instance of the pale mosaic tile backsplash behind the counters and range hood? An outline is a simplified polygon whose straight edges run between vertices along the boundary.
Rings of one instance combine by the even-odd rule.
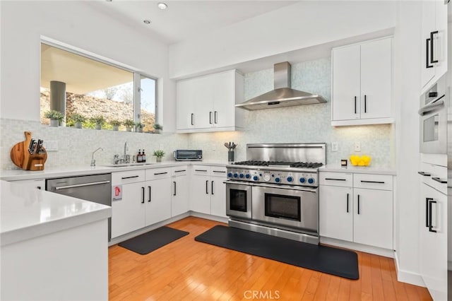
[[[322,95],[326,103],[281,107],[269,110],[246,111],[242,131],[196,134],[145,134],[125,131],[96,131],[93,129],[53,128],[40,122],[0,119],[0,167],[16,169],[10,159],[14,144],[24,140],[24,131],[32,131],[33,138],[57,141],[58,151],[49,151],[46,167],[89,165],[92,152],[97,165],[113,163],[114,154],[124,152],[124,142],[129,144],[129,154],[145,149],[148,161],[154,162],[152,153],[163,149],[163,160],[174,160],[175,149],[202,149],[205,160],[227,161],[223,144],[238,144],[235,160],[246,160],[246,143],[309,143],[326,142],[327,163],[340,163],[340,159],[355,154],[355,142],[361,151],[372,157],[372,166],[394,165],[393,126],[391,124],[368,126],[331,126],[331,59],[316,59],[292,65],[292,88]],[[245,75],[244,99],[248,100],[273,89],[273,69]],[[338,151],[331,151],[331,142],[338,143]]]

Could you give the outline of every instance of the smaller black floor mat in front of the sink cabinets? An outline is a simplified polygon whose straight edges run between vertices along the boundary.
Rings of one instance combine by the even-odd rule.
[[[124,240],[124,242],[119,242],[119,246],[144,255],[188,234],[189,232],[163,226],[129,240]]]

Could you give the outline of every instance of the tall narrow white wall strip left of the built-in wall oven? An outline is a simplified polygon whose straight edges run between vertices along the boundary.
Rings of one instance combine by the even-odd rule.
[[[422,285],[419,273],[419,97],[421,5],[400,1],[395,33],[396,256],[399,281]]]

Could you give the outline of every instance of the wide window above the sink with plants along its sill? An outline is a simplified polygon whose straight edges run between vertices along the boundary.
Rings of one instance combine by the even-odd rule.
[[[84,119],[83,127],[94,128],[95,117],[103,117],[102,129],[120,122],[119,130],[126,130],[128,120],[136,131],[153,131],[156,85],[150,76],[41,43],[42,124],[49,124],[45,112],[57,110],[64,113],[66,126]]]

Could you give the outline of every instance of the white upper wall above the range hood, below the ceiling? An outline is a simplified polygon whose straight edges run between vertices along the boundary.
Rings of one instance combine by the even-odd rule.
[[[301,1],[170,45],[169,77],[392,28],[395,20],[395,1]]]

